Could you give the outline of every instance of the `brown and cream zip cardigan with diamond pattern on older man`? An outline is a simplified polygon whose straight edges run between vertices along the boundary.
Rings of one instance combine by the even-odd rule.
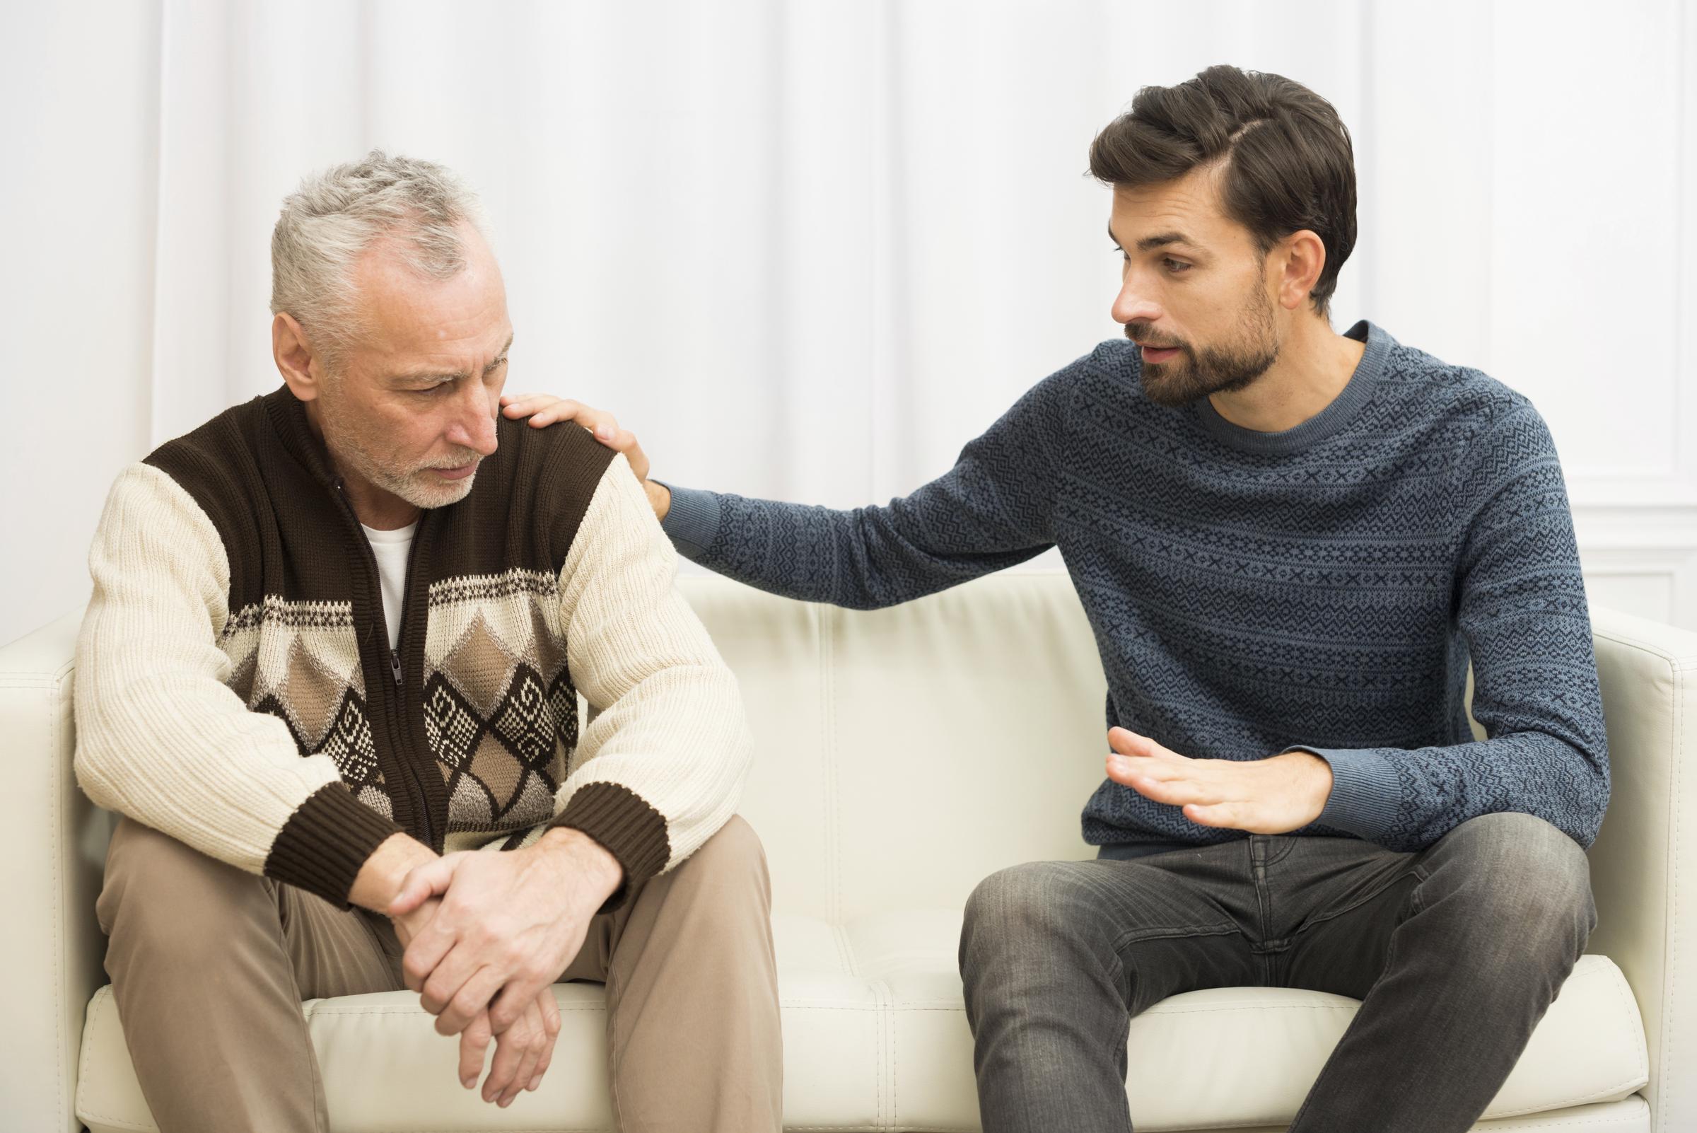
[[[338,904],[395,831],[451,851],[572,826],[624,894],[692,853],[736,806],[750,736],[677,555],[584,429],[502,419],[497,439],[472,492],[419,519],[395,650],[287,387],[126,468],[76,648],[83,790]]]

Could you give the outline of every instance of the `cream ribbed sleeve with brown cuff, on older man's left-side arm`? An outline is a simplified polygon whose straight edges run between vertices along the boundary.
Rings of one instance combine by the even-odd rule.
[[[348,904],[399,828],[361,806],[328,755],[229,687],[217,634],[229,558],[170,475],[126,468],[88,553],[93,597],[76,639],[76,782],[119,811],[249,873]]]

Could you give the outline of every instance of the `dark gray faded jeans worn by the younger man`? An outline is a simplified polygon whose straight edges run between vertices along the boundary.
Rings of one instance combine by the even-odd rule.
[[[961,935],[984,1131],[1129,1133],[1132,1016],[1201,987],[1305,987],[1363,1002],[1290,1133],[1459,1133],[1595,926],[1583,850],[1529,814],[1419,853],[1251,834],[1001,870]]]

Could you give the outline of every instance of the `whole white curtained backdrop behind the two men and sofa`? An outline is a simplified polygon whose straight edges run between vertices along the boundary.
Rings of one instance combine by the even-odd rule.
[[[46,229],[25,263],[68,241],[90,273],[7,282],[25,360],[64,377],[20,395],[44,424],[3,472],[70,458],[88,426],[56,417],[66,400],[117,422],[61,488],[5,504],[48,553],[3,566],[39,602],[8,602],[0,639],[85,592],[122,461],[278,383],[268,236],[311,170],[380,146],[462,171],[506,271],[511,388],[613,409],[657,475],[882,502],[1120,332],[1089,139],[1139,87],[1222,61],[1307,83],[1354,134],[1337,327],[1371,317],[1526,390],[1599,585],[1697,619],[1697,15],[1677,0],[156,0],[5,20],[7,105],[39,110],[7,127],[27,175],[8,202]],[[73,210],[100,198],[87,176],[119,219]],[[107,265],[117,282],[92,285]]]

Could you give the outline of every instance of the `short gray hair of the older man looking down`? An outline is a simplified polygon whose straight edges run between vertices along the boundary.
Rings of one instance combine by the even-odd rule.
[[[294,315],[336,373],[361,331],[353,287],[360,254],[394,237],[407,266],[445,280],[467,263],[460,224],[489,237],[477,193],[431,161],[373,149],[307,176],[272,229],[272,314]]]

